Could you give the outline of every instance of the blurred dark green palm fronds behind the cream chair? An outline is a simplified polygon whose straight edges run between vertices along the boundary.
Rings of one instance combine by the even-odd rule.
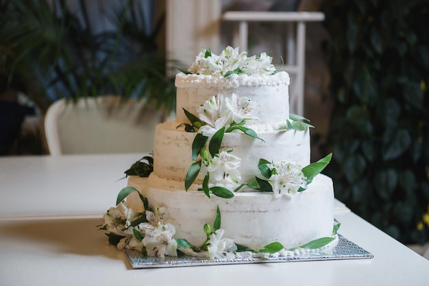
[[[156,14],[151,0],[0,0],[0,154],[41,146],[37,134],[15,142],[27,114],[18,93],[42,114],[56,99],[105,94],[173,110],[164,26],[165,10]]]

